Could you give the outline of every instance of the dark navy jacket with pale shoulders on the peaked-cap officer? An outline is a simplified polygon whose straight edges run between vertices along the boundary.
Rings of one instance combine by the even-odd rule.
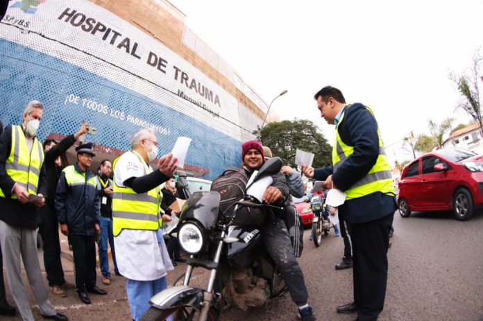
[[[77,163],[73,166],[78,173],[82,174]],[[96,175],[87,169],[86,182],[91,177]],[[90,184],[69,186],[62,171],[56,191],[56,210],[59,223],[67,223],[69,233],[94,235],[94,225],[99,224],[100,216],[99,193],[96,186]]]

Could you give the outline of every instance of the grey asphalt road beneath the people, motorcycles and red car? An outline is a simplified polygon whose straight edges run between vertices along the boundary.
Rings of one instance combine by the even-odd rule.
[[[401,218],[396,211],[394,226],[386,304],[379,320],[483,320],[483,211],[468,222],[453,219],[450,212],[417,212],[410,218]],[[316,317],[354,320],[355,314],[335,311],[337,305],[350,302],[353,295],[352,270],[334,270],[343,255],[342,239],[334,237],[331,231],[323,238],[321,247],[316,248],[309,236],[310,230],[306,230],[299,261]],[[73,282],[71,263],[63,261],[67,279]],[[180,264],[171,272],[169,282],[183,275],[184,268]],[[203,284],[203,271],[194,279]],[[89,306],[78,300],[74,289],[67,290],[66,298],[50,295],[50,299],[71,320],[130,320],[124,278],[114,277],[110,286],[103,286],[98,278],[98,285],[109,293],[91,295]],[[28,294],[35,304],[30,290]],[[8,300],[13,302],[9,293]],[[34,307],[33,311],[42,320],[38,309]],[[296,306],[286,295],[246,313],[231,309],[222,315],[222,320],[297,320]]]

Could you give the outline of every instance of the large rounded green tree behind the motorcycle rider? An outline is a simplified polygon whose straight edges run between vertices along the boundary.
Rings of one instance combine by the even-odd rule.
[[[269,123],[260,131],[260,136],[262,144],[271,149],[273,156],[280,157],[289,166],[297,166],[297,148],[315,155],[314,168],[332,165],[332,146],[312,121],[295,119]]]

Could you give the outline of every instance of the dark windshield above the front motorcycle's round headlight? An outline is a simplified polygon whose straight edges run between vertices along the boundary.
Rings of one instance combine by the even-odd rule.
[[[198,220],[205,229],[210,229],[217,223],[220,205],[220,193],[203,191],[193,193],[183,205],[180,222],[183,220]]]

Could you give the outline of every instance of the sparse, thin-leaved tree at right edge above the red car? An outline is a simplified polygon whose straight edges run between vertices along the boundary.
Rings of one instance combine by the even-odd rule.
[[[480,133],[483,135],[480,91],[478,89],[478,81],[480,75],[480,62],[482,57],[476,52],[473,55],[473,64],[468,74],[457,76],[455,73],[450,73],[450,79],[457,85],[459,94],[461,94],[461,101],[457,104],[457,108],[463,109],[468,113],[475,122],[480,124]]]

